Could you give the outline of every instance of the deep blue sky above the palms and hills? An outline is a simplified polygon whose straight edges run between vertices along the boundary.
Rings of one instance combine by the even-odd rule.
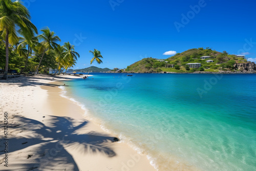
[[[256,61],[255,1],[24,0],[38,30],[48,26],[80,54],[74,69],[90,67],[98,49],[100,68],[126,68],[166,51],[210,47]]]

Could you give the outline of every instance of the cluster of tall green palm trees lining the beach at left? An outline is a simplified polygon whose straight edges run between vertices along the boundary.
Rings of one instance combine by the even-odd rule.
[[[48,27],[40,30],[42,34],[37,35],[37,28],[31,23],[30,18],[28,9],[19,1],[0,0],[0,38],[6,44],[6,65],[3,79],[7,79],[10,46],[16,45],[19,56],[26,58],[25,67],[20,73],[26,70],[28,58],[32,53],[41,55],[34,73],[38,72],[45,54],[50,52],[55,54],[59,73],[61,69],[67,71],[68,68],[73,67],[77,57],[80,57],[70,42],[65,42],[63,46],[60,46],[58,44],[60,38]]]

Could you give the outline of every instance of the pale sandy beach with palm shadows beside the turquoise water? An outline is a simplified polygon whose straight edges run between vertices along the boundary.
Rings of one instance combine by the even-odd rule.
[[[15,146],[8,152],[8,169],[47,170],[51,166],[54,170],[156,170],[145,155],[139,155],[128,144],[113,142],[113,135],[83,117],[80,106],[61,97],[58,84],[68,80],[63,77],[0,81],[3,94],[0,109],[8,112],[9,145]],[[17,105],[5,105],[12,102]],[[3,122],[3,115],[0,121]],[[51,150],[57,152],[55,156]],[[1,158],[3,155],[1,152]],[[2,168],[4,163],[0,163]]]

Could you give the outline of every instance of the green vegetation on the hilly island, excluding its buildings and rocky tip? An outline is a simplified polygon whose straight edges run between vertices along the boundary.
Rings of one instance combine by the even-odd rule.
[[[201,56],[210,56],[214,62],[207,63],[206,59],[201,59]],[[125,69],[125,72],[133,73],[157,73],[157,72],[195,72],[195,71],[234,71],[235,63],[247,62],[244,58],[239,58],[236,55],[230,55],[226,51],[217,52],[210,48],[189,49],[182,53],[165,59],[165,61],[158,61],[155,58],[144,58],[133,63]],[[200,68],[190,68],[186,63],[201,63]]]

